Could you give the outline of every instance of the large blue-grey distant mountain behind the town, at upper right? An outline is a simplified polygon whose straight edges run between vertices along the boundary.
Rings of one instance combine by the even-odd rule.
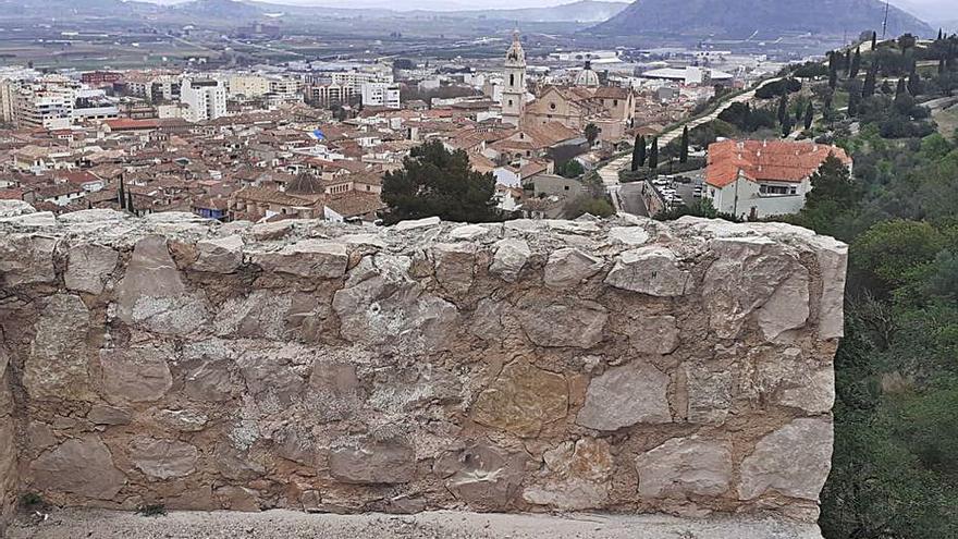
[[[590,32],[618,36],[774,38],[788,33],[856,36],[881,32],[885,2],[880,0],[637,0]],[[892,7],[887,35],[933,30]]]

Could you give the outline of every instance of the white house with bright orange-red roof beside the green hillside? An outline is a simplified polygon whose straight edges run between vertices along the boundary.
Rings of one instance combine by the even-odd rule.
[[[849,171],[844,149],[791,140],[723,140],[709,146],[705,193],[716,210],[740,218],[797,213],[810,177],[834,155]]]

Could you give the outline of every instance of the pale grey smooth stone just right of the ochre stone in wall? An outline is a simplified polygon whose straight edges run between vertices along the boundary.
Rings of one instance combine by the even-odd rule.
[[[632,362],[593,378],[576,422],[597,430],[618,430],[637,424],[672,421],[668,375],[649,364]]]

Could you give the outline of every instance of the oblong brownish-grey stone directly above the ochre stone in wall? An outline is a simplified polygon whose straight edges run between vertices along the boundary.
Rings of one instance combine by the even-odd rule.
[[[575,298],[531,298],[516,314],[526,335],[539,346],[589,348],[602,341],[609,314],[601,304]]]

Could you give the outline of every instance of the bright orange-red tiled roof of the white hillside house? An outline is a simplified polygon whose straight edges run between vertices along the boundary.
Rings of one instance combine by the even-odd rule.
[[[705,182],[724,187],[734,183],[739,173],[753,182],[801,182],[814,174],[830,154],[851,164],[848,154],[836,146],[787,140],[723,140],[709,146]]]

